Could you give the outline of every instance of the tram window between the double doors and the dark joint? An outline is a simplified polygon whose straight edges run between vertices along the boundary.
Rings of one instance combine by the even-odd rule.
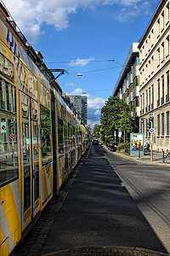
[[[40,105],[41,114],[41,143],[42,143],[42,166],[52,161],[51,149],[51,117],[50,111]]]

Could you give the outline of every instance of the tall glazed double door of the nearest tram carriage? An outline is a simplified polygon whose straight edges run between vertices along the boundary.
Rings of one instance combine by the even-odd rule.
[[[40,210],[39,206],[39,118],[37,102],[20,92],[22,109],[21,157],[23,177],[23,230]]]

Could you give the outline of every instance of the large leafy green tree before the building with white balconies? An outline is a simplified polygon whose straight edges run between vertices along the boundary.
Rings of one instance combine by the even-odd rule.
[[[100,123],[102,132],[106,137],[113,137],[114,131],[132,131],[133,106],[128,106],[118,96],[110,96],[101,109]]]

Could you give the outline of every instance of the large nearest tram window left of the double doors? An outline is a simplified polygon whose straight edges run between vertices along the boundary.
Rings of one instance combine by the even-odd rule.
[[[14,106],[16,106],[15,88],[0,79],[0,187],[18,178],[17,124]]]

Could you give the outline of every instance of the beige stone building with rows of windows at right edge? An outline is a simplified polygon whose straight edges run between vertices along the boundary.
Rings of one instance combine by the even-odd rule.
[[[147,123],[152,116],[153,149],[170,150],[169,136],[169,1],[161,0],[139,43],[139,131],[150,138]]]

